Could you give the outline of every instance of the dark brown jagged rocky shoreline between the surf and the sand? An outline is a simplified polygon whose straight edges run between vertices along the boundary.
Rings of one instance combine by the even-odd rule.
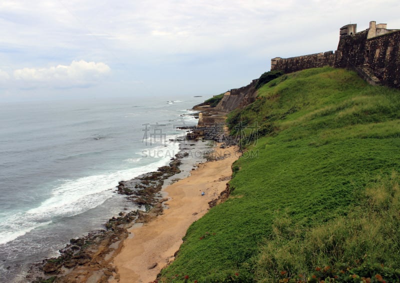
[[[129,236],[127,229],[132,225],[149,222],[163,213],[168,200],[161,193],[164,181],[181,171],[181,159],[189,155],[185,150],[194,149],[186,146],[194,145],[180,143],[179,152],[171,158],[168,165],[127,181],[120,181],[116,192],[126,195],[139,209],[121,211],[117,217],[110,218],[104,224],[104,229],[70,239],[69,243],[59,250],[58,257],[46,258],[32,264],[26,280],[35,283],[117,280],[118,274],[111,263],[114,255],[122,248],[123,240]]]

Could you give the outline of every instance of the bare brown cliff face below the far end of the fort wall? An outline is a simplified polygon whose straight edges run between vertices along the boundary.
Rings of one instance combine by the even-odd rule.
[[[214,110],[228,113],[236,108],[242,108],[255,100],[257,91],[255,85],[258,79],[253,79],[250,84],[230,89],[224,95],[221,101],[215,106]]]

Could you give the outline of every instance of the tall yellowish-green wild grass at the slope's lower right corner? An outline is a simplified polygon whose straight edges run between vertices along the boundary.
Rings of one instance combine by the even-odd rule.
[[[366,186],[357,205],[345,216],[312,228],[292,226],[290,217],[277,216],[273,233],[257,257],[256,277],[264,282],[282,279],[282,274],[286,278],[298,274],[305,278],[334,278],[331,273],[322,274],[310,267],[320,271],[318,266],[340,264],[345,267],[330,270],[340,275],[340,282],[348,273],[357,274],[358,279],[379,273],[385,280],[398,281],[393,268],[399,262],[394,251],[400,249],[400,177],[393,171],[391,175],[377,175],[376,179]],[[389,267],[384,270],[385,265]],[[346,272],[340,274],[340,270]]]

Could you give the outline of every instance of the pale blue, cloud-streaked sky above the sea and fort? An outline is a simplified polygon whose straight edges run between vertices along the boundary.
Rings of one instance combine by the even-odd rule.
[[[270,59],[335,50],[339,28],[400,28],[398,0],[1,0],[0,103],[205,97]]]

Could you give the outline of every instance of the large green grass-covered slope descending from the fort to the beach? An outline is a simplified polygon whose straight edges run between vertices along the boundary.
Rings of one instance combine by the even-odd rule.
[[[308,69],[228,121],[247,150],[231,195],[190,226],[160,281],[399,278],[398,90]]]

